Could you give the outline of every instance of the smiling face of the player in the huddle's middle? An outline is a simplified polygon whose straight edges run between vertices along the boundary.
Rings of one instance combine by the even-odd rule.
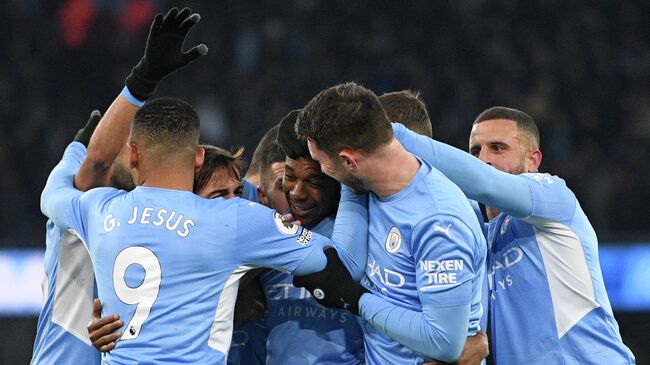
[[[339,183],[310,158],[287,158],[282,187],[293,218],[305,227],[313,228],[338,207]]]

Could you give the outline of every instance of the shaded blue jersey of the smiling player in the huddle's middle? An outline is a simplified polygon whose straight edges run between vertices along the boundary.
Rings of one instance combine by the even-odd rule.
[[[333,226],[331,216],[313,231],[330,237]],[[267,303],[267,365],[363,363],[359,317],[321,306],[305,288],[294,287],[286,273],[267,270],[260,279]]]

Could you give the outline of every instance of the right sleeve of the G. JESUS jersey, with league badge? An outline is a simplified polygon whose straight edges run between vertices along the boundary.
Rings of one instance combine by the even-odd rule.
[[[237,253],[242,264],[292,273],[314,250],[331,241],[291,224],[263,205],[240,200],[237,209]]]

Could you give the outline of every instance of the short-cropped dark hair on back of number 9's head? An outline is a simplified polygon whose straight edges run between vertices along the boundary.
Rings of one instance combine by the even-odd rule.
[[[199,124],[196,111],[183,100],[151,99],[135,113],[130,139],[158,157],[194,156],[199,144]]]

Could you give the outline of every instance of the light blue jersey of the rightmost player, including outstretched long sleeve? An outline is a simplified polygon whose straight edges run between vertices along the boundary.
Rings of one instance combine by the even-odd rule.
[[[596,233],[564,180],[504,173],[400,124],[393,130],[468,197],[502,212],[488,226],[496,364],[635,363],[612,314]]]

